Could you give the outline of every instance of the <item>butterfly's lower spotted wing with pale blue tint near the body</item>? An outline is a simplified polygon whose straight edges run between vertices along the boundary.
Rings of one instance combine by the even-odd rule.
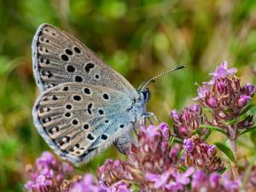
[[[44,140],[75,165],[87,162],[136,122],[131,97],[102,85],[63,83],[46,90],[33,108]]]

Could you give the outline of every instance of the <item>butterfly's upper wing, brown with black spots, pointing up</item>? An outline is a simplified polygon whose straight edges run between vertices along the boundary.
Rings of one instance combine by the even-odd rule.
[[[81,82],[119,90],[130,96],[137,91],[84,44],[61,29],[42,24],[32,42],[33,72],[40,90],[57,84]]]

